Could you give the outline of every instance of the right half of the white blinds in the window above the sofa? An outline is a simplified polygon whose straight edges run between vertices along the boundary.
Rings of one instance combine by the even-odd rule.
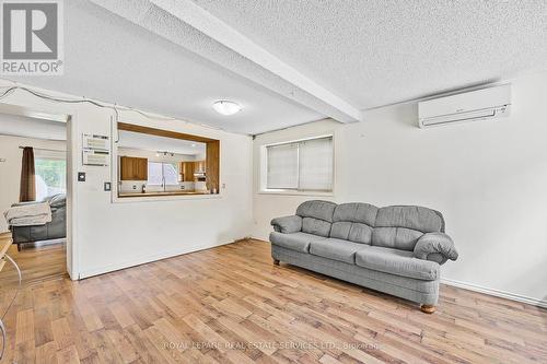
[[[333,138],[300,142],[299,189],[309,191],[333,190]]]

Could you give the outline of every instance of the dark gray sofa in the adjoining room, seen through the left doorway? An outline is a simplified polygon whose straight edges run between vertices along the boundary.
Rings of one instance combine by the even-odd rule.
[[[13,203],[12,207],[40,202],[49,202],[51,208],[50,222],[45,225],[10,226],[13,243],[18,244],[19,250],[26,243],[67,237],[67,198],[65,193],[49,196],[42,201]]]

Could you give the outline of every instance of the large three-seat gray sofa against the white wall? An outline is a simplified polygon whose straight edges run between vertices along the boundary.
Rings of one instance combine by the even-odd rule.
[[[421,304],[433,313],[440,267],[456,260],[438,211],[410,206],[306,201],[274,219],[271,257]]]

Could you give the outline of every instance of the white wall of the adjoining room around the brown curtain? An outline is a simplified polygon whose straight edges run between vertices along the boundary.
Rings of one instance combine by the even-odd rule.
[[[25,120],[22,119],[21,122]],[[3,120],[0,120],[0,124]],[[3,218],[3,212],[12,203],[19,202],[19,189],[21,184],[21,164],[23,150],[19,146],[44,148],[57,151],[65,151],[65,141],[54,141],[45,139],[19,138],[12,136],[0,136],[0,232],[8,231],[8,224]]]

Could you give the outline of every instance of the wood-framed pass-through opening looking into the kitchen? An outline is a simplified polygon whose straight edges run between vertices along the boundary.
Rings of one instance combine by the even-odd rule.
[[[220,193],[220,140],[118,122],[118,198]]]

